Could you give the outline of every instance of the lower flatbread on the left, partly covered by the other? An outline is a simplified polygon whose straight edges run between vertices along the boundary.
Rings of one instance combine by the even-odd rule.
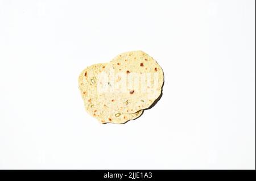
[[[99,100],[97,93],[98,74],[102,73],[108,64],[89,66],[79,75],[79,90],[84,100],[85,110],[100,123],[122,124],[141,116],[143,110],[135,113],[122,113]]]

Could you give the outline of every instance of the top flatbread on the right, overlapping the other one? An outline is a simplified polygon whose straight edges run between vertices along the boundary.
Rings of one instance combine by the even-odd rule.
[[[98,91],[98,99],[110,109],[135,113],[150,107],[162,92],[163,70],[141,50],[119,54],[106,65],[105,72],[108,81],[104,84],[110,82],[114,91]]]

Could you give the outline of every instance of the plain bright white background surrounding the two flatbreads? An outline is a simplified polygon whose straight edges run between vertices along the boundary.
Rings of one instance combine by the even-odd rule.
[[[143,50],[162,99],[84,111],[86,66]],[[255,1],[0,0],[0,169],[255,169]]]

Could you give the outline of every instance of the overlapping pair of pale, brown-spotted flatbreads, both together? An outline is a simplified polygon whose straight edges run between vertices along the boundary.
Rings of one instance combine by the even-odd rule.
[[[162,68],[138,50],[84,69],[79,90],[91,116],[102,124],[122,124],[141,116],[159,98],[163,82]]]

